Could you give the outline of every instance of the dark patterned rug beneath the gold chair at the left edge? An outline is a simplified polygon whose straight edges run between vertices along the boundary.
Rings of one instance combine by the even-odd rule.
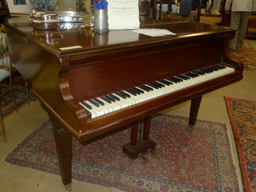
[[[2,88],[2,92],[4,92],[5,88]],[[11,94],[8,93],[6,97],[11,98]],[[27,102],[27,95],[26,95],[26,90],[23,89],[14,89],[14,97],[16,101],[17,108],[22,107],[25,104],[28,104]],[[34,95],[32,94],[31,91],[29,91],[29,100],[35,100]],[[4,105],[7,102],[7,100],[1,99],[1,106]],[[1,113],[2,113],[2,118],[6,118],[8,115],[11,113],[16,112],[15,106],[13,102],[9,102],[7,105],[5,105],[3,108],[1,108]]]

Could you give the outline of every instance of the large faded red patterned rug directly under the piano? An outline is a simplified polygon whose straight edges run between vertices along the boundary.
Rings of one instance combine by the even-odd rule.
[[[154,115],[150,138],[162,157],[146,154],[150,159],[147,164],[122,153],[130,131],[120,127],[89,140],[86,146],[73,139],[73,179],[134,192],[241,191],[226,124],[197,120],[189,132],[188,118]],[[5,161],[60,174],[50,121],[38,127]]]

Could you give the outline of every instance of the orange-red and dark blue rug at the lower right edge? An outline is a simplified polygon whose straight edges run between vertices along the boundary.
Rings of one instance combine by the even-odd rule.
[[[256,100],[224,97],[245,191],[256,192]]]

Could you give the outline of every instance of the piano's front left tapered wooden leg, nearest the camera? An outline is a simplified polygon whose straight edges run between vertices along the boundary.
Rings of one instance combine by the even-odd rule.
[[[72,136],[64,130],[61,123],[49,112],[56,150],[58,154],[58,162],[62,183],[65,185],[67,191],[72,190]]]

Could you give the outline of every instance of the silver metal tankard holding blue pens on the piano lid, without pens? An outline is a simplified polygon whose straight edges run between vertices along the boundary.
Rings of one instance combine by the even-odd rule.
[[[108,10],[107,9],[91,9],[91,22],[93,22],[92,19],[92,12],[94,11],[94,26],[93,31],[104,33],[109,32],[109,23],[108,23]]]

